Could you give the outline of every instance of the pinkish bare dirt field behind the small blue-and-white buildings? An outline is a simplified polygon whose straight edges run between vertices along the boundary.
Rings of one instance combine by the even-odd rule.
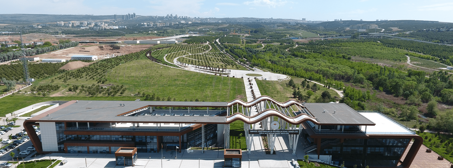
[[[52,51],[47,54],[39,54],[39,59],[71,59],[72,55],[96,55],[98,58],[103,59],[102,57],[107,54],[130,54],[135,53],[144,49],[148,49],[154,44],[138,44],[138,45],[127,45],[120,44],[120,49],[111,48],[110,44],[80,44],[77,47],[70,49],[60,49],[57,51]]]

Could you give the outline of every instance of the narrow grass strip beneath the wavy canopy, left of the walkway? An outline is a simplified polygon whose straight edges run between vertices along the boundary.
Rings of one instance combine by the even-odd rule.
[[[230,124],[230,148],[247,149],[246,133],[244,132],[244,122],[235,121]]]

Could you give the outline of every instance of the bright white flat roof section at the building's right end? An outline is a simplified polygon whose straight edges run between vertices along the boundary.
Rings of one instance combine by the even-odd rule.
[[[361,131],[366,132],[366,134],[415,134],[405,126],[387,118],[384,114],[375,112],[359,112],[359,114],[376,124],[362,126]]]

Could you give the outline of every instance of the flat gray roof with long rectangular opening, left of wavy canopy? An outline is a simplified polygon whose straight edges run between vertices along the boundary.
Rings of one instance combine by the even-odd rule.
[[[120,104],[125,104],[120,106]],[[40,114],[39,121],[90,121],[90,122],[134,122],[134,123],[224,123],[223,116],[117,116],[148,106],[159,107],[226,107],[226,102],[177,102],[177,101],[96,101],[78,100],[67,102],[62,107]],[[52,113],[53,112],[53,113]],[[140,113],[140,112],[139,112]],[[49,114],[48,116],[46,114]]]

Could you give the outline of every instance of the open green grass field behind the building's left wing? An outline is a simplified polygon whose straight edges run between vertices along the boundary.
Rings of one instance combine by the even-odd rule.
[[[238,95],[245,95],[241,79],[169,68],[149,59],[117,66],[107,73],[107,78],[128,86],[130,93],[146,92],[162,98],[171,96],[177,101],[230,101]]]

